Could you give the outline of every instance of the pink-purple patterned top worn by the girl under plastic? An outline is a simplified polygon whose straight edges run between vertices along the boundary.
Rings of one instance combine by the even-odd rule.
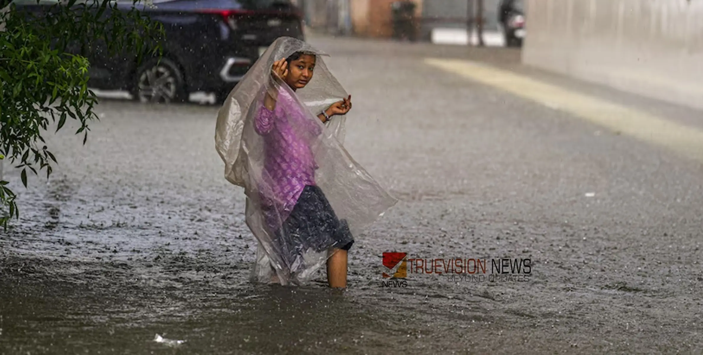
[[[318,166],[311,143],[322,133],[322,127],[313,117],[307,117],[288,91],[280,90],[273,111],[262,103],[254,129],[264,138],[264,183],[259,194],[266,224],[276,231],[290,215],[303,188],[315,185]]]

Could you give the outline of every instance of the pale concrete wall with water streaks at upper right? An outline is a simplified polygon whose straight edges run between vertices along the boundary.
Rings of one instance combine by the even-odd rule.
[[[522,60],[703,109],[703,0],[528,0]]]

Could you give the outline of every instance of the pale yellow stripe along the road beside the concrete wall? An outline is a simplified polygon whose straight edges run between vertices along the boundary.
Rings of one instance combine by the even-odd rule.
[[[425,63],[703,162],[703,131],[699,129],[467,60],[426,58]]]

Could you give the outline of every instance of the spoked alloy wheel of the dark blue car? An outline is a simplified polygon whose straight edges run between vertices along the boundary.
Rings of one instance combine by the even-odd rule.
[[[134,77],[132,96],[143,103],[181,103],[188,100],[186,83],[178,65],[154,58],[141,65]]]

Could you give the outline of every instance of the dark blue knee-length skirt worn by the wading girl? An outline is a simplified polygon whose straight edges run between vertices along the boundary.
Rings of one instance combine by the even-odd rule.
[[[344,219],[338,219],[318,186],[305,186],[288,218],[273,235],[273,245],[288,271],[295,273],[305,252],[330,248],[349,250],[354,237]]]

